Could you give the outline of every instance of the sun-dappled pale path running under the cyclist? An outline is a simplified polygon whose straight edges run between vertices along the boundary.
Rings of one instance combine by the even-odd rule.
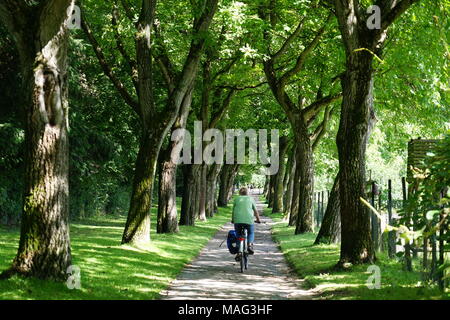
[[[255,195],[258,210],[263,204]],[[231,223],[224,225],[209,241],[199,256],[181,272],[162,299],[311,299],[312,291],[301,288],[302,280],[296,278],[286,264],[283,254],[271,237],[272,220],[261,217],[256,224],[255,255],[250,256],[249,269],[240,273],[239,263],[228,252],[226,239]]]

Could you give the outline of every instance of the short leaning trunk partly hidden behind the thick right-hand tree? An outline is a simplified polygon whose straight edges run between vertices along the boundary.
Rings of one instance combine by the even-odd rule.
[[[330,198],[328,199],[327,209],[323,217],[322,225],[314,244],[337,243],[341,239],[341,219],[339,203],[339,173],[337,174]]]

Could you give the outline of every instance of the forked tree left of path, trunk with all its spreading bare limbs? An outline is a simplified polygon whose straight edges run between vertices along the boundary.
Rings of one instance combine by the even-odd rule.
[[[153,92],[153,48],[152,37],[156,12],[156,0],[142,0],[138,20],[135,22],[136,57],[134,60],[121,45],[117,37],[117,51],[132,66],[130,77],[135,87],[137,100],[114,73],[105,59],[103,51],[95,39],[88,23],[82,21],[85,31],[97,55],[104,73],[110,78],[125,102],[130,105],[140,119],[141,143],[136,159],[135,175],[122,243],[150,241],[150,208],[155,180],[156,164],[164,137],[174,124],[186,96],[191,94],[197,75],[198,63],[205,46],[206,31],[212,22],[218,0],[199,0],[192,2],[193,25],[192,40],[188,53],[182,63],[182,71],[177,77],[168,77],[168,95],[165,105],[155,104]],[[121,1],[124,11],[134,21],[133,10],[126,1]],[[164,66],[160,65],[164,68]],[[169,70],[170,71],[170,70]]]

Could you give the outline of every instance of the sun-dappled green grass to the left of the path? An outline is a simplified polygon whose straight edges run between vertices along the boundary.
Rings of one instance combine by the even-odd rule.
[[[0,299],[157,299],[218,228],[230,220],[220,208],[208,221],[180,226],[177,234],[156,234],[146,247],[120,245],[125,217],[100,217],[70,224],[73,265],[81,269],[81,289],[65,283],[14,276],[0,280]],[[152,222],[156,210],[152,210]],[[0,270],[9,267],[19,230],[0,228]]]

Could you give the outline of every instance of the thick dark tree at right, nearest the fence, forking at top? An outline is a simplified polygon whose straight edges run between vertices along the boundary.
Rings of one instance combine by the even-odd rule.
[[[369,28],[369,14],[358,0],[335,0],[335,12],[346,54],[341,79],[343,100],[337,136],[341,205],[341,256],[338,265],[375,259],[370,215],[364,197],[365,153],[373,109],[373,60],[380,57],[389,26],[418,0],[377,0],[379,26]],[[370,12],[370,11],[369,11]],[[376,18],[376,17],[375,17]]]

